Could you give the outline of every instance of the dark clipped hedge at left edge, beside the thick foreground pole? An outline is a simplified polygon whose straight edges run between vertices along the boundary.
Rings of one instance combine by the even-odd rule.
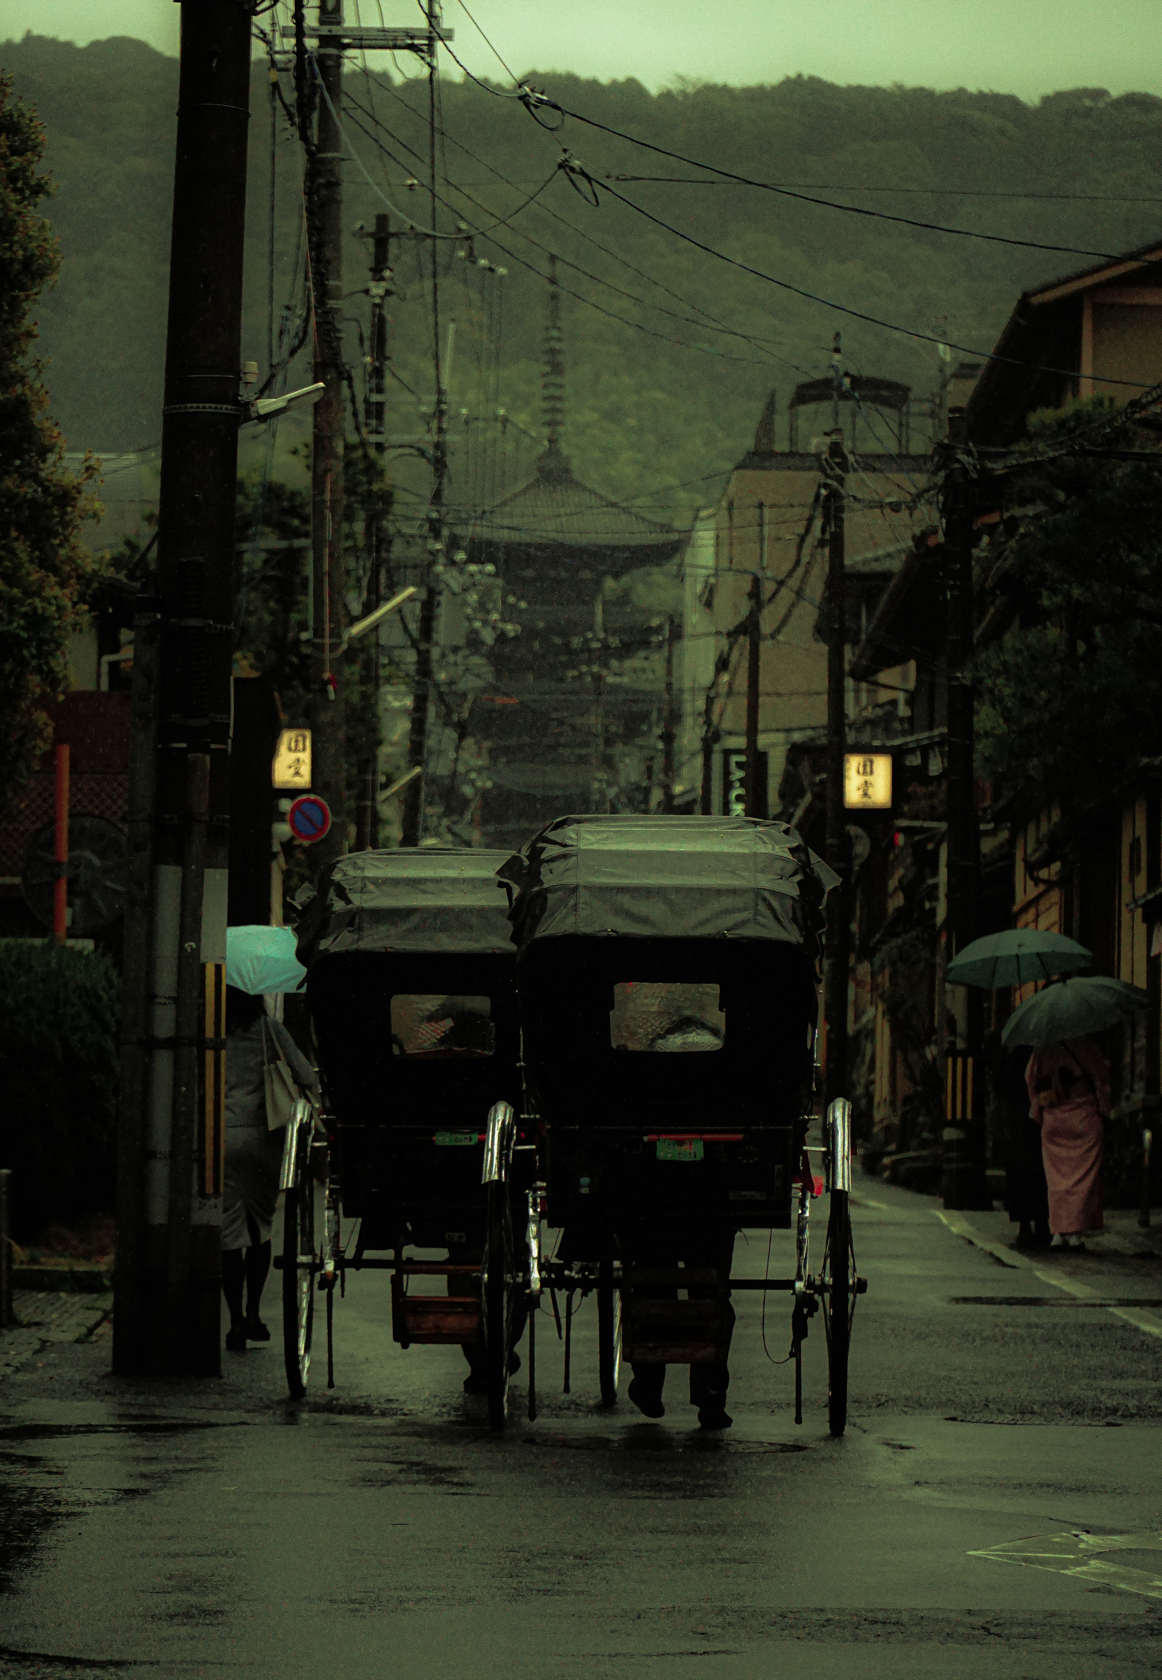
[[[17,1242],[113,1211],[119,990],[101,953],[0,942],[0,1164],[13,1171]]]

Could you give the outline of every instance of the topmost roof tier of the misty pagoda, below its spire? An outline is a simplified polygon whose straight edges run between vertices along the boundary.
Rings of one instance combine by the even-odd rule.
[[[657,524],[583,484],[556,440],[537,460],[532,479],[485,516],[485,543],[527,543],[576,549],[655,548],[673,551],[682,533]],[[662,558],[662,556],[658,556]]]

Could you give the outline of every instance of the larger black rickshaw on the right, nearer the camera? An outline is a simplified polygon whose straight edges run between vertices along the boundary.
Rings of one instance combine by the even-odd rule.
[[[593,815],[549,823],[500,874],[514,899],[524,1116],[539,1141],[541,1205],[561,1228],[557,1257],[541,1263],[529,1221],[531,1302],[549,1287],[556,1312],[564,1292],[568,1336],[573,1294],[596,1292],[599,1393],[611,1404],[621,1357],[724,1366],[730,1292],[786,1292],[796,1423],[803,1342],[821,1312],[828,1425],[843,1435],[865,1290],[846,1100],[824,1117],[818,1272],[808,1245],[818,961],[836,877],[784,823]],[[690,1255],[694,1230],[714,1257],[735,1231],[793,1221],[794,1277],[730,1277],[729,1263]],[[566,1344],[566,1386],[568,1373]]]

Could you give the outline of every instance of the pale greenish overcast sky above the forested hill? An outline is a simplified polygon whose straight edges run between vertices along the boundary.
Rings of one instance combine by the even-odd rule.
[[[991,87],[1036,99],[1060,87],[1162,94],[1162,0],[472,0],[510,69],[774,82]],[[136,35],[178,47],[175,0],[0,0],[0,40],[34,30],[86,44]],[[348,0],[364,24],[411,22],[406,0]],[[504,76],[460,0],[445,0],[457,52]],[[455,66],[448,72],[458,76]]]

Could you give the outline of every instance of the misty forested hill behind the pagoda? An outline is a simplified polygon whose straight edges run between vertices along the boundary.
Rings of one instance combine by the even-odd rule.
[[[0,60],[47,124],[47,161],[59,181],[49,212],[65,262],[40,312],[55,413],[72,449],[153,444],[176,60],[128,39],[77,49],[32,35],[2,45]],[[1127,250],[1162,232],[1162,101],[1147,94],[1112,99],[1080,89],[1028,106],[1004,94],[836,87],[803,77],[771,87],[683,86],[657,96],[631,79],[599,84],[534,74],[532,81],[573,111],[653,144],[846,205],[1093,252]],[[598,207],[586,203],[563,175],[549,180],[561,144],[593,176],[611,176],[618,193],[705,245],[789,286],[962,346],[987,349],[1018,292],[1093,260],[705,185],[702,170],[573,119],[547,133],[502,92],[500,84],[487,91],[452,81],[442,91],[438,192],[453,208],[438,210],[438,225],[487,228],[507,218],[472,249],[509,269],[500,282],[457,259],[463,247],[455,240],[440,245],[443,312],[458,323],[453,408],[457,415],[467,408],[472,425],[499,403],[539,432],[541,276],[547,252],[556,252],[561,282],[576,294],[564,299],[566,447],[576,469],[610,494],[641,496],[641,506],[653,506],[657,487],[658,512],[668,486],[737,459],[772,386],[783,410],[798,380],[823,371],[836,329],[851,368],[903,378],[917,396],[935,385],[935,346],[727,267],[606,193],[598,193]],[[262,64],[252,108],[243,356],[265,365],[270,102]],[[413,173],[425,178],[420,84],[353,71],[348,109],[351,151],[395,205],[427,225],[427,193],[406,185]],[[552,121],[547,116],[546,126]],[[274,296],[277,314],[287,304],[292,328],[302,289],[292,277],[302,198],[282,114],[275,136]],[[383,203],[356,163],[346,178],[348,228],[371,225]],[[428,287],[420,272],[427,260],[428,245],[398,240],[393,432],[415,430],[416,407],[432,391]],[[366,284],[366,245],[351,232],[348,292]],[[494,289],[504,292],[502,321]],[[356,323],[366,319],[366,299],[351,296],[349,309],[358,361]],[[487,346],[480,354],[482,329],[487,346],[500,341],[499,386],[489,376]],[[527,440],[526,459],[534,450]],[[521,467],[510,462],[505,472]],[[474,494],[499,487],[495,459],[490,472],[489,482],[484,469],[477,472]],[[463,482],[460,494],[468,494]],[[677,499],[702,494],[690,484]]]

